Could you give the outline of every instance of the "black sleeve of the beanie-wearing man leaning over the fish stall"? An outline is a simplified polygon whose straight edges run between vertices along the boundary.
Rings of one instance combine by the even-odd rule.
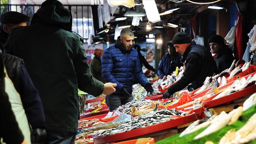
[[[182,78],[168,89],[168,92],[171,95],[188,86],[200,71],[201,57],[199,55],[191,53],[188,55],[186,61],[186,67]]]

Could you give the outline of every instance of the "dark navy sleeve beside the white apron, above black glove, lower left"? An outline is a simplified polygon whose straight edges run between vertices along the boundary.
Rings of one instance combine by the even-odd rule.
[[[45,129],[42,101],[24,65],[20,68],[20,97],[32,129]]]

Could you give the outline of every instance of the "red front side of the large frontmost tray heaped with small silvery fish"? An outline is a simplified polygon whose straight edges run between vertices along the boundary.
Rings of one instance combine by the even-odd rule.
[[[193,112],[187,116],[183,116],[183,117],[180,117],[177,119],[172,119],[172,120],[162,122],[159,124],[153,124],[151,126],[141,127],[141,128],[133,129],[133,130],[126,131],[126,132],[120,132],[120,133],[116,133],[113,135],[107,135],[107,136],[103,136],[103,137],[95,137],[95,138],[93,138],[93,140],[94,140],[95,144],[110,143],[110,142],[125,140],[125,139],[132,138],[132,137],[137,137],[140,135],[149,134],[152,132],[161,131],[164,129],[169,129],[172,127],[177,127],[179,125],[187,124],[187,123],[189,123],[191,121],[195,121],[195,120],[196,120],[196,113]]]

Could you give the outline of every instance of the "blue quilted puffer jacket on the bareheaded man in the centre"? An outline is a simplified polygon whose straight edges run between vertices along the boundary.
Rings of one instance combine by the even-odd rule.
[[[122,87],[127,92],[132,93],[133,76],[135,75],[138,82],[145,87],[148,83],[140,67],[140,60],[137,50],[131,48],[129,51],[121,46],[119,38],[115,45],[105,49],[101,57],[102,77],[105,82],[116,83],[116,92],[120,94]]]

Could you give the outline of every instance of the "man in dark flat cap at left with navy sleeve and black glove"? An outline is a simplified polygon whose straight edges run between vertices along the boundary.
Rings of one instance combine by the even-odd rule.
[[[46,134],[46,122],[41,98],[25,68],[21,58],[4,53],[4,44],[9,34],[15,28],[26,26],[29,17],[19,12],[5,12],[0,16],[0,48],[3,50],[3,60],[9,78],[12,80],[16,91],[19,93],[23,107],[32,127],[30,133],[24,133],[27,143],[44,142]],[[19,119],[17,119],[19,121]]]

